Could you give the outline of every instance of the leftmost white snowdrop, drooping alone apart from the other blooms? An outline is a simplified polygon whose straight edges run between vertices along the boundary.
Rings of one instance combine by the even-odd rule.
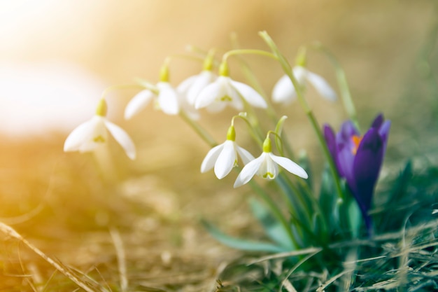
[[[89,152],[97,150],[108,141],[110,132],[115,141],[125,150],[126,155],[134,160],[136,150],[129,135],[118,125],[106,119],[106,101],[101,99],[97,106],[96,115],[87,122],[76,127],[64,143],[64,151]]]

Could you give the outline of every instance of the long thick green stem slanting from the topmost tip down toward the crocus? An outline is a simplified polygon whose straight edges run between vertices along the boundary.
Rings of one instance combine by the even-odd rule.
[[[278,62],[280,62],[283,71],[285,71],[285,74],[287,74],[288,77],[290,78],[290,81],[292,81],[295,91],[297,92],[297,99],[299,101],[299,104],[302,106],[302,109],[304,109],[307,118],[309,118],[313,130],[315,131],[316,136],[318,138],[318,142],[321,148],[323,149],[325,158],[329,162],[330,172],[332,173],[334,179],[334,184],[337,190],[338,197],[344,201],[344,193],[342,192],[341,181],[339,179],[339,174],[337,172],[336,166],[334,165],[332,155],[330,155],[330,151],[327,147],[327,143],[325,143],[325,139],[323,137],[323,133],[320,130],[320,126],[318,125],[318,122],[315,116],[313,115],[313,112],[311,111],[309,104],[307,104],[306,99],[304,99],[304,96],[302,95],[302,90],[299,86],[299,83],[295,78],[295,76],[292,74],[292,67],[290,67],[288,60],[286,60],[285,57],[281,55],[280,51],[278,50],[274,41],[272,41],[269,34],[267,34],[267,32],[260,32],[259,34],[262,37],[262,39],[267,43],[269,48],[271,48],[271,50],[274,52],[274,55],[276,55]]]

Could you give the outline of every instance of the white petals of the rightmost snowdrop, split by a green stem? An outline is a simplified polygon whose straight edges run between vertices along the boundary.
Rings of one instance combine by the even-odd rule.
[[[318,74],[314,74],[303,66],[297,65],[293,67],[292,73],[297,79],[299,85],[302,88],[306,88],[306,83],[309,82],[316,91],[330,101],[337,99],[337,94],[330,87],[330,85],[325,81],[325,79]],[[297,92],[295,91],[294,85],[290,78],[285,75],[277,81],[272,90],[272,101],[290,103],[297,97]]]

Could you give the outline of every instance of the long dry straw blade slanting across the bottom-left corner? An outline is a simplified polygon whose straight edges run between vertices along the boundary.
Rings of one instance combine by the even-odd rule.
[[[25,244],[27,247],[29,247],[29,249],[34,251],[34,253],[38,254],[38,256],[41,256],[41,258],[43,258],[43,260],[45,260],[47,263],[52,265],[52,267],[55,267],[56,270],[58,270],[59,272],[64,274],[64,276],[71,279],[71,281],[73,281],[80,288],[83,288],[87,292],[96,292],[96,290],[94,290],[93,288],[90,288],[90,286],[88,286],[87,282],[79,279],[78,277],[76,277],[75,274],[73,274],[72,272],[67,270],[60,263],[57,263],[56,260],[53,260],[52,258],[47,256],[45,253],[43,253],[43,251],[39,250],[36,246],[34,246],[30,242],[28,242],[26,239],[24,239],[24,237],[22,237],[18,232],[16,232],[10,226],[0,222],[0,230],[1,230],[1,232],[5,233],[6,235],[13,237],[13,238],[19,240],[20,242],[22,242],[23,244]],[[101,291],[106,292],[103,288],[101,288]]]

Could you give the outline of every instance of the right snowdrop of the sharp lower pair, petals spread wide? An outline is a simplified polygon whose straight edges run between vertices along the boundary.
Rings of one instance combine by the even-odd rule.
[[[264,140],[263,153],[258,158],[248,162],[241,170],[239,176],[237,176],[234,182],[234,188],[243,186],[253,178],[255,174],[261,176],[264,179],[275,179],[278,175],[278,165],[286,169],[288,172],[295,174],[303,179],[307,179],[309,176],[306,171],[293,162],[289,158],[274,155],[271,152],[271,139],[269,137]]]

